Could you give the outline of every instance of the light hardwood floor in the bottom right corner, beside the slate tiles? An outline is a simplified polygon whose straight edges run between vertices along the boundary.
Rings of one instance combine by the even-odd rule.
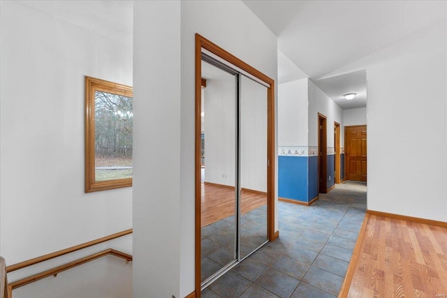
[[[447,297],[447,228],[367,214],[362,230],[339,297]]]

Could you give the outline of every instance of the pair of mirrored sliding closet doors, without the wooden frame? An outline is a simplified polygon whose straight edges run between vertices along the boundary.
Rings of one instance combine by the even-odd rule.
[[[268,241],[268,88],[202,54],[200,283]]]

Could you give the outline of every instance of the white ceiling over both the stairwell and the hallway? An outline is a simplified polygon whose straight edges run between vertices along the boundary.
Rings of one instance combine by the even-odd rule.
[[[278,36],[279,83],[309,77],[343,109],[366,105],[365,61],[447,18],[447,1],[243,1]],[[19,2],[132,44],[133,1]]]

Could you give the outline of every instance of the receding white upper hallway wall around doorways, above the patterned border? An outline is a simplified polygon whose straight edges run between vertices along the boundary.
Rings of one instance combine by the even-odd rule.
[[[340,124],[340,144],[344,144],[343,110],[314,82],[309,80],[309,146],[318,146],[318,112],[325,115],[328,147],[334,147],[334,121]]]

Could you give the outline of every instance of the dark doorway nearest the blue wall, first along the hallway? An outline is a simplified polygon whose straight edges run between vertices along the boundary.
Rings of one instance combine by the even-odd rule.
[[[318,113],[317,136],[318,136],[318,193],[328,193],[328,125],[326,123],[328,117]],[[323,125],[320,129],[320,121]],[[323,135],[323,138],[321,137]],[[323,144],[321,144],[323,139]],[[321,152],[321,157],[320,157]],[[321,160],[323,160],[321,162]],[[324,176],[323,184],[320,184],[320,177]]]

